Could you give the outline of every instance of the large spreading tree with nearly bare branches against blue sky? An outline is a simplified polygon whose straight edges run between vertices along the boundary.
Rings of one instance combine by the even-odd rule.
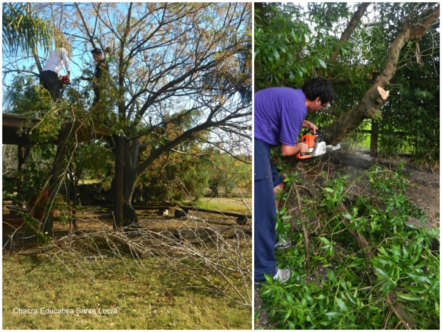
[[[251,8],[94,3],[76,9],[90,46],[109,46],[115,57],[111,66],[120,93],[113,110],[120,126],[113,135],[115,217],[123,225],[122,207],[131,210],[137,178],[153,160],[200,139],[203,131],[224,131],[237,142],[249,136],[241,123],[251,116]],[[184,131],[163,131],[153,142],[140,139],[184,117],[190,119]]]

